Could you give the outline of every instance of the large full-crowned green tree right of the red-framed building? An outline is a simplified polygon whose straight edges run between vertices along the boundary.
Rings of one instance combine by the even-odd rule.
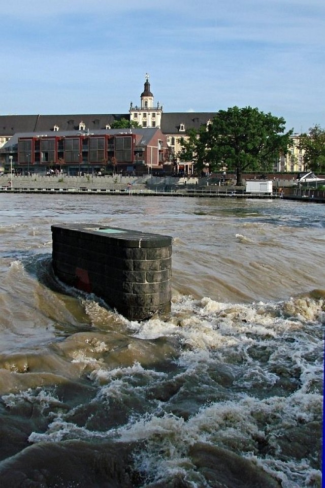
[[[220,110],[198,134],[190,131],[181,139],[178,156],[193,160],[198,171],[209,165],[210,171],[235,172],[241,185],[244,171],[269,171],[279,154],[287,153],[293,131],[285,133],[284,124],[282,117],[257,108]]]

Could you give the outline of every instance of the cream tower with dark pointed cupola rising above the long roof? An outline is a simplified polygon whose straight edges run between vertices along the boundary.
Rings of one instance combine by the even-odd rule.
[[[163,113],[163,106],[157,103],[156,107],[153,105],[153,94],[150,91],[149,75],[146,73],[144,90],[141,93],[141,105],[134,107],[131,102],[129,114],[130,120],[138,122],[142,127],[160,127],[161,114]]]

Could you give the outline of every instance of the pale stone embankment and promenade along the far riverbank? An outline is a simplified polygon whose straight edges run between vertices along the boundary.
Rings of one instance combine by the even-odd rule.
[[[272,194],[246,193],[245,186],[235,186],[230,179],[227,185],[216,184],[211,178],[135,176],[0,176],[0,192],[50,193],[50,194],[102,194],[172,197],[219,198],[269,198],[294,199],[325,203],[325,192],[315,188],[294,188],[291,180],[275,178]],[[243,178],[243,182],[245,179]],[[11,186],[12,183],[12,186]]]

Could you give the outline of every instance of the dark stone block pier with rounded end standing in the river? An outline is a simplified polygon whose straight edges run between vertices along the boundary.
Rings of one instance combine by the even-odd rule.
[[[171,309],[172,238],[91,223],[52,225],[52,265],[129,320]]]

